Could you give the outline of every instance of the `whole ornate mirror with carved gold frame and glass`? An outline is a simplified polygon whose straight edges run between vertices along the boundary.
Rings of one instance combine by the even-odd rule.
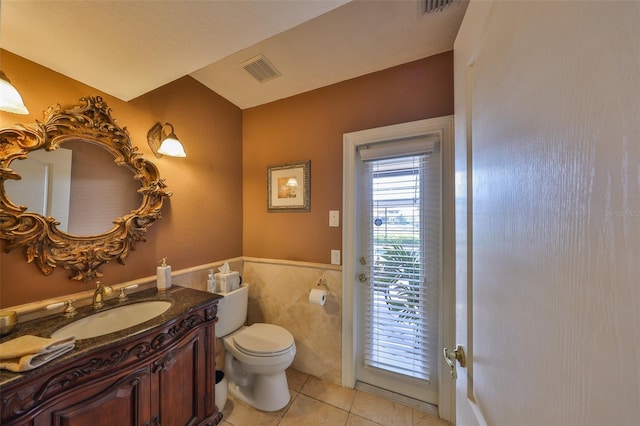
[[[0,238],[45,275],[62,266],[89,281],[104,263],[124,263],[171,193],[104,100],[80,101],[0,129]],[[27,175],[30,183],[17,185]]]

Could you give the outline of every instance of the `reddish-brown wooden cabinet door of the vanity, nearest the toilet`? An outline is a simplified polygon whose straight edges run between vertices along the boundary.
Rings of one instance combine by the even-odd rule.
[[[206,329],[200,329],[153,362],[152,418],[158,416],[159,424],[194,425],[207,416],[206,342]]]

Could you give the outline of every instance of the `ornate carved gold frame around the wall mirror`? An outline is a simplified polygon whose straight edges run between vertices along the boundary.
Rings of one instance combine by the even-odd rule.
[[[49,107],[44,121],[0,129],[0,239],[6,252],[24,247],[28,263],[49,275],[57,266],[71,271],[71,279],[89,281],[102,277],[98,268],[113,259],[124,264],[129,252],[158,219],[166,191],[156,166],[132,147],[129,132],[111,116],[111,108],[100,96],[81,98],[80,105],[63,110]],[[142,202],[137,210],[116,218],[110,231],[93,236],[67,234],[57,228],[54,217],[44,217],[15,205],[7,196],[4,182],[20,179],[9,167],[13,160],[25,159],[30,151],[53,151],[67,140],[84,140],[108,150],[119,166],[127,166],[140,181]]]

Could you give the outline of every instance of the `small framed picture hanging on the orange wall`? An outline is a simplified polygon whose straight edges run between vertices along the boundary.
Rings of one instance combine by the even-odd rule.
[[[311,161],[267,166],[267,211],[311,210]]]

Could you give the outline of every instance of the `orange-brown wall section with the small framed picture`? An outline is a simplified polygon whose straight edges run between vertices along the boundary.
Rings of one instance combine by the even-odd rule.
[[[268,84],[268,83],[267,83]],[[330,263],[342,228],[342,135],[453,114],[453,53],[243,111],[243,254]],[[311,211],[267,213],[268,165],[311,160]]]

